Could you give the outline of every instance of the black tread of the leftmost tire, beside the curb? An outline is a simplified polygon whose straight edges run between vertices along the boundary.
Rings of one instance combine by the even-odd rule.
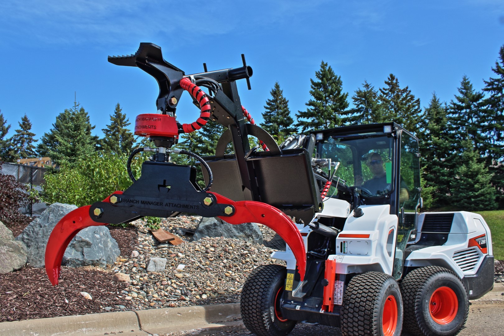
[[[266,289],[271,286],[279,273],[283,273],[283,277],[285,277],[285,266],[262,265],[248,276],[243,285],[240,300],[241,318],[246,328],[258,336],[283,336],[289,333],[296,324],[295,321],[289,321],[292,327],[288,330],[276,330],[272,327],[273,322],[264,311],[265,300],[268,300],[265,297]]]

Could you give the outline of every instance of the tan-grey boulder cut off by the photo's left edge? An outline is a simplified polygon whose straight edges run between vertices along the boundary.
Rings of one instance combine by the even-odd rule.
[[[19,270],[26,260],[26,245],[14,240],[12,231],[0,222],[0,274]]]

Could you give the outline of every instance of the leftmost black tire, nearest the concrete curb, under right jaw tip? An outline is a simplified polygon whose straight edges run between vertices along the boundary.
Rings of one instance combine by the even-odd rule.
[[[247,278],[241,292],[240,309],[243,324],[258,336],[283,336],[296,321],[284,319],[280,299],[287,271],[281,265],[263,265]]]

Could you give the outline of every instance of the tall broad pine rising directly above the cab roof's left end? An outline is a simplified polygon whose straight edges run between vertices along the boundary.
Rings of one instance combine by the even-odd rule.
[[[342,93],[343,82],[328,63],[322,61],[320,70],[315,72],[318,81],[310,79],[310,95],[313,99],[305,103],[306,111],[298,111],[296,117],[307,119],[299,120],[296,127],[301,126],[301,131],[307,129],[320,129],[341,126],[348,123],[348,93]]]

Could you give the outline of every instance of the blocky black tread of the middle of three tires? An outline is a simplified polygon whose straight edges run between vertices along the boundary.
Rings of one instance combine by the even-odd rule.
[[[376,324],[369,323],[374,319],[373,307],[379,298],[382,285],[391,276],[381,272],[366,272],[350,280],[343,297],[341,315],[341,334],[343,336],[375,335]]]

